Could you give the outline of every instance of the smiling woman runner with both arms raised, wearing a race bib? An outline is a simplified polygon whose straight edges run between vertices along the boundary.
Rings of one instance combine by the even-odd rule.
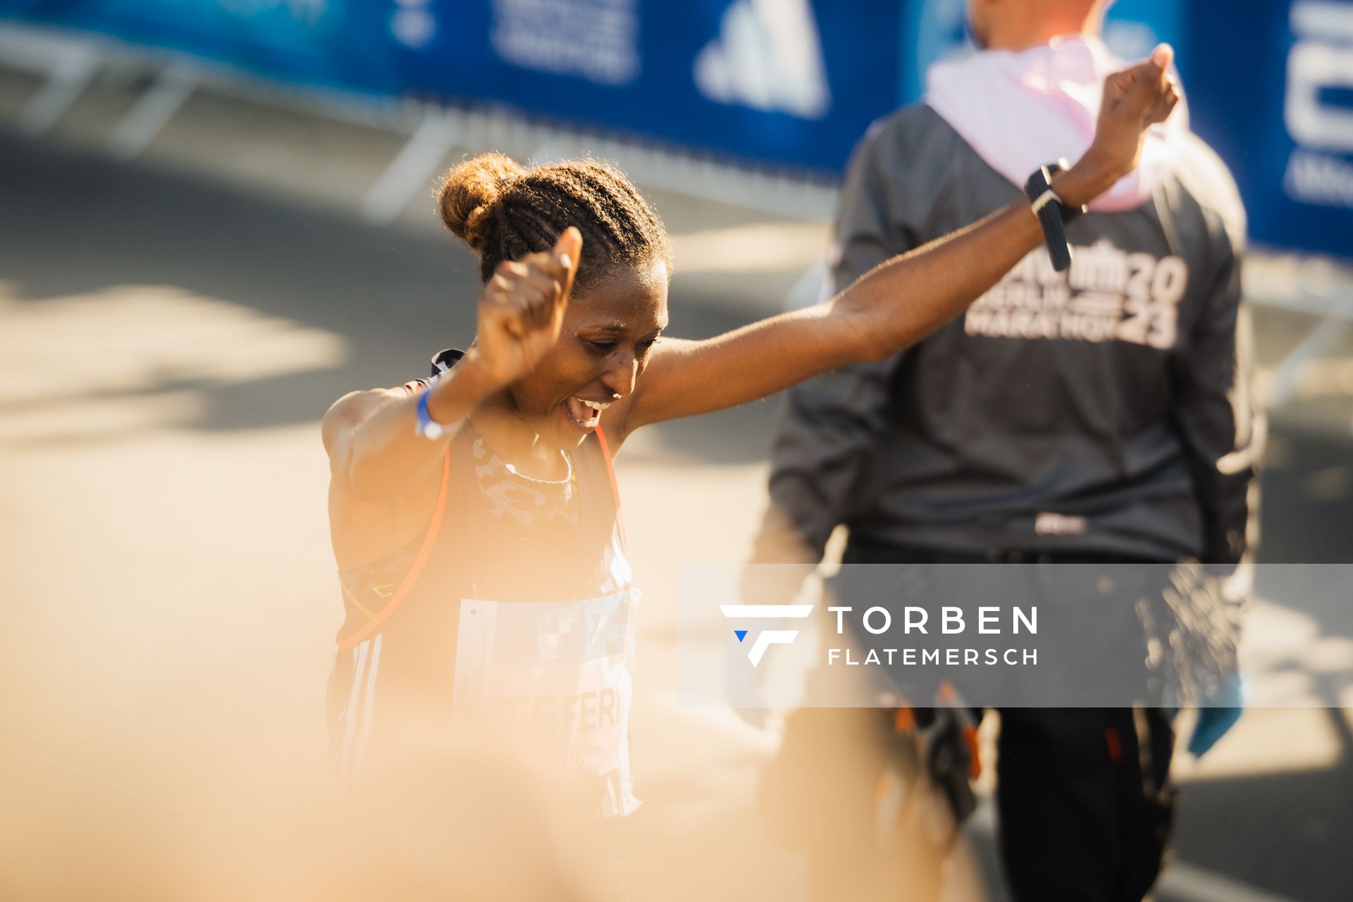
[[[1176,95],[1169,49],[1111,76],[1095,141],[1053,191],[1078,208],[1137,162]],[[1046,199],[1045,199],[1046,200]],[[708,341],[659,337],[658,215],[593,161],[453,168],[442,219],[480,258],[468,352],[325,415],[346,619],[337,764],[399,768],[475,722],[530,737],[622,815],[637,590],[610,460],[640,426],[741,404],[927,335],[1043,241],[1023,197],[846,291]],[[478,729],[478,726],[476,726]]]

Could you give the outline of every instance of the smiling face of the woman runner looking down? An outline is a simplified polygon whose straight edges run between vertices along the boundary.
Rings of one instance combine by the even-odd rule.
[[[635,391],[667,326],[667,266],[617,266],[568,302],[559,342],[511,384],[513,402],[541,441],[576,448],[606,406]]]

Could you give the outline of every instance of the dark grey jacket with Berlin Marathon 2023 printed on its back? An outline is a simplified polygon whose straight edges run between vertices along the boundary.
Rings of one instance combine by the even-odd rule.
[[[756,560],[816,561],[846,523],[925,549],[1237,561],[1262,431],[1243,211],[1201,142],[1183,156],[1139,210],[1070,223],[1069,273],[1039,249],[919,345],[789,392]],[[936,112],[905,108],[851,158],[829,288],[1020,196]]]

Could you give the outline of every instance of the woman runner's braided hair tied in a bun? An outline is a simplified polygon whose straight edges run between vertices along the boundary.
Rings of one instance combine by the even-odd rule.
[[[446,172],[437,207],[446,229],[479,256],[484,283],[499,262],[553,247],[568,226],[583,235],[579,288],[621,265],[662,261],[671,273],[663,220],[624,173],[595,160],[528,169],[501,153],[480,154]]]

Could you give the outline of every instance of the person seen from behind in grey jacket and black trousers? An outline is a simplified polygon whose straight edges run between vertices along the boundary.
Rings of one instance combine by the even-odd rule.
[[[850,161],[824,293],[1085,149],[1120,65],[1099,38],[1105,5],[970,0],[981,51],[934,65],[924,100]],[[754,563],[816,564],[839,525],[847,564],[1241,561],[1264,433],[1245,212],[1184,103],[1066,237],[1068,270],[1039,249],[930,338],[789,392]],[[792,723],[786,744],[796,733],[821,730]],[[1166,845],[1172,745],[1150,706],[1003,709],[1013,898],[1141,899]]]

